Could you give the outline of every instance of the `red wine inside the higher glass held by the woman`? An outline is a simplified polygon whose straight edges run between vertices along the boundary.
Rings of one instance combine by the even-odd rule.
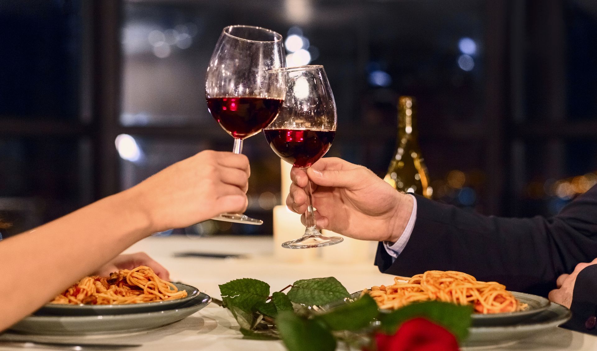
[[[228,134],[244,139],[272,123],[282,102],[266,97],[212,97],[207,98],[207,107]]]

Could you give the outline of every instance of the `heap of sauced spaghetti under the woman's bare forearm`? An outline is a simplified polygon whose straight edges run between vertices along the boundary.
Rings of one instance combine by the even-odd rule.
[[[109,277],[87,276],[54,298],[58,304],[130,304],[186,297],[176,285],[159,278],[150,267],[123,269]]]

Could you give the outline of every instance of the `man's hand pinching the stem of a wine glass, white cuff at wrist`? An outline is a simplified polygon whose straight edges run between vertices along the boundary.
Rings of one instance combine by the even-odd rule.
[[[307,211],[304,187],[311,181],[319,228],[361,240],[396,241],[413,211],[413,199],[396,191],[365,167],[340,158],[322,158],[307,172],[293,168],[286,205]]]

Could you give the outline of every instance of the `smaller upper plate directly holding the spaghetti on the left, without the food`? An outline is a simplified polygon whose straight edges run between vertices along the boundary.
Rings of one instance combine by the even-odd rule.
[[[132,304],[57,304],[48,303],[41,307],[35,315],[47,316],[106,316],[124,315],[128,313],[153,312],[165,309],[175,309],[193,300],[199,295],[199,290],[190,285],[173,283],[179,290],[186,290],[187,295],[176,300],[156,301]]]

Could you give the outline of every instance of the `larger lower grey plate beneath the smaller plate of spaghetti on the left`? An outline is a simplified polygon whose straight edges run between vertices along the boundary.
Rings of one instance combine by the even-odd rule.
[[[13,331],[43,335],[91,335],[136,332],[162,327],[192,315],[211,302],[199,292],[174,309],[104,316],[29,316],[13,325]]]

